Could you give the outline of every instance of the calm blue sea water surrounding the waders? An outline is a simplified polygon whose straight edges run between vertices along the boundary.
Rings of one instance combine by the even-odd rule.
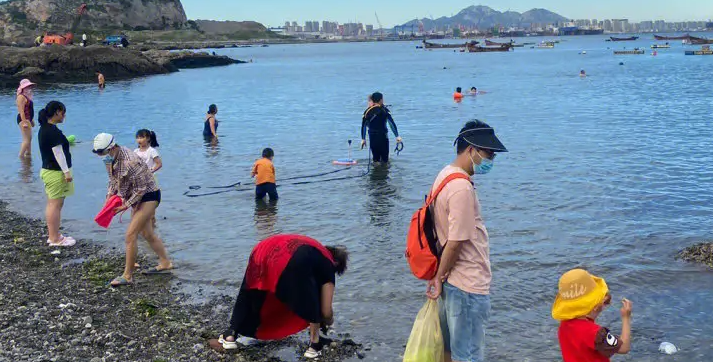
[[[674,257],[713,230],[713,57],[684,56],[677,42],[657,57],[614,56],[607,47],[648,49],[652,40],[564,39],[553,50],[502,54],[425,52],[416,43],[231,49],[220,53],[255,62],[109,79],[104,92],[41,90],[37,103],[63,101],[62,128],[82,141],[72,149],[77,194],[66,202],[63,226],[123,248],[126,223],[105,232],[91,221],[106,174],[90,141],[111,132],[133,147],[136,130],[153,129],[164,161],[159,230],[183,286],[234,294],[252,246],[275,233],[345,244],[352,260],[338,281],[337,329],[374,344],[367,358],[395,361],[425,300],[424,283],[403,258],[411,213],[451,161],[460,127],[479,118],[511,150],[475,180],[491,233],[489,360],[560,360],[550,307],[559,275],[574,267],[604,276],[616,300],[634,302],[633,351],[618,360],[712,360],[713,273]],[[589,77],[580,79],[581,69]],[[454,104],[457,86],[488,93]],[[277,206],[256,206],[249,187],[183,196],[189,185],[249,182],[264,147],[275,149],[278,180],[334,170],[347,140],[359,139],[366,95],[375,90],[392,105],[406,144],[388,170],[285,185]],[[211,103],[220,109],[217,147],[201,137]],[[12,94],[0,96],[0,115],[0,198],[41,217],[39,151],[35,143],[31,165],[16,159]],[[354,152],[365,164],[366,151]],[[618,314],[611,308],[601,322],[618,330]],[[681,352],[659,355],[662,341]]]

